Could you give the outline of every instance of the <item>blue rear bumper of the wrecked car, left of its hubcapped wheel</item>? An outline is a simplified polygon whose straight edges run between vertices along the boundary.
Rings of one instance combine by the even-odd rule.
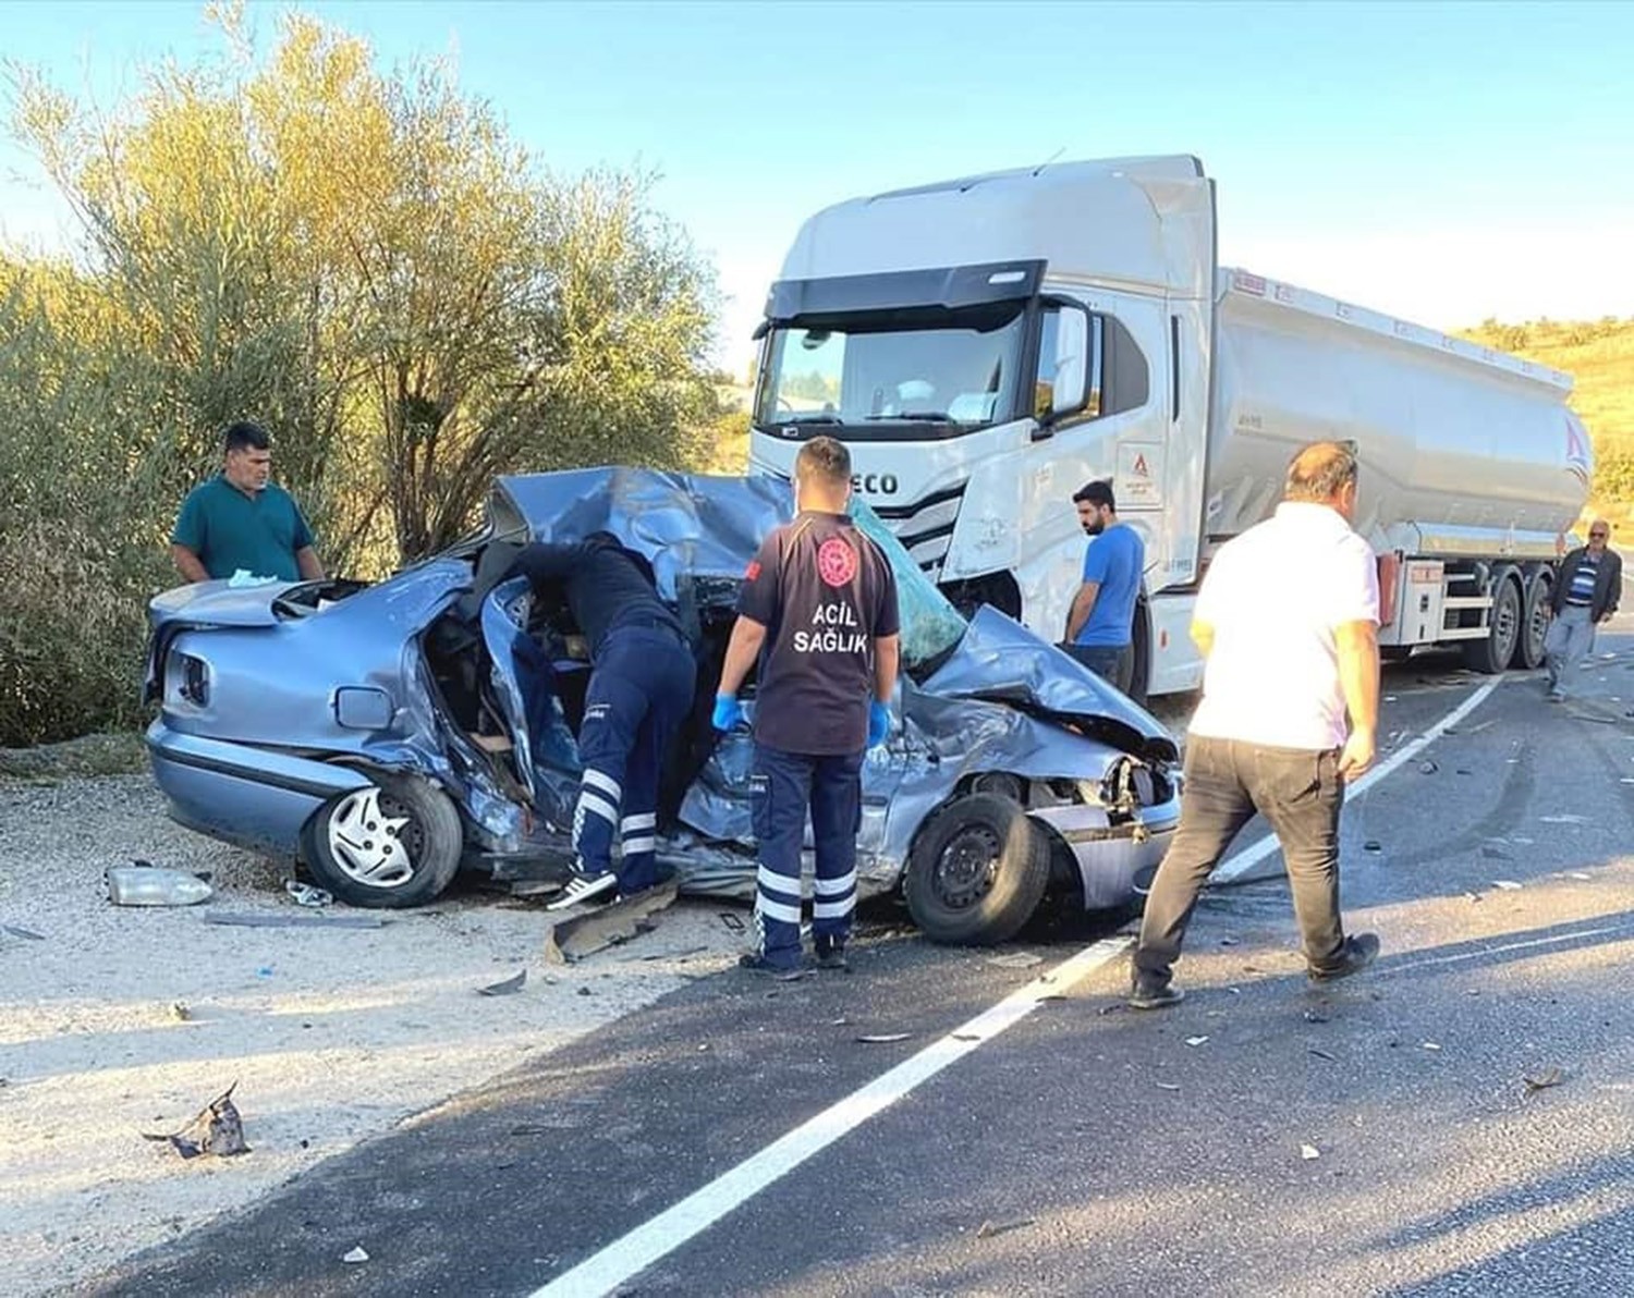
[[[183,735],[163,718],[147,728],[147,754],[175,821],[273,856],[297,856],[312,813],[369,782],[345,766]]]

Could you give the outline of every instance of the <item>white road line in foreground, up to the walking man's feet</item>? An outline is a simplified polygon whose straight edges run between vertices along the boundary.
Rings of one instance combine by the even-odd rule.
[[[1049,973],[1034,978],[1020,991],[1013,991],[998,1004],[977,1014],[962,1027],[956,1027],[941,1040],[925,1047],[918,1055],[904,1060],[863,1089],[853,1091],[843,1100],[824,1109],[817,1117],[801,1123],[732,1171],[722,1172],[668,1211],[613,1241],[601,1252],[536,1290],[531,1298],[569,1298],[569,1295],[592,1298],[592,1295],[611,1293],[665,1254],[706,1231],[740,1203],[792,1172],[812,1154],[827,1149],[840,1136],[856,1130],[917,1086],[935,1078],[948,1065],[958,1063],[979,1045],[1015,1027],[1038,1009],[1042,998],[1059,996],[1106,962],[1118,958],[1129,950],[1131,944],[1129,937],[1108,937],[1085,947]]]

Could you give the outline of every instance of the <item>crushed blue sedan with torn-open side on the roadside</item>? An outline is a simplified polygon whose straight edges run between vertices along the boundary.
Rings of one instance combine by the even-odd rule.
[[[752,898],[747,731],[716,735],[740,576],[788,483],[641,469],[500,478],[485,527],[377,585],[211,581],[152,601],[147,731],[170,813],[307,870],[356,906],[417,906],[464,867],[565,880],[588,665],[564,607],[507,571],[529,540],[609,531],[681,616],[698,702],[667,758],[660,864]],[[863,895],[933,939],[1010,937],[1046,893],[1131,903],[1178,821],[1149,713],[1002,612],[961,617],[866,506],[900,586],[904,674],[863,769]],[[743,692],[753,709],[752,684]]]

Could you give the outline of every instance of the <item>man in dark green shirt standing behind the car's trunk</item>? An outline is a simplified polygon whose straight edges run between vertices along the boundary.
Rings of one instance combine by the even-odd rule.
[[[312,529],[294,498],[271,482],[273,442],[266,429],[235,423],[227,429],[225,464],[181,503],[170,553],[188,581],[235,573],[281,581],[315,581],[324,565]]]

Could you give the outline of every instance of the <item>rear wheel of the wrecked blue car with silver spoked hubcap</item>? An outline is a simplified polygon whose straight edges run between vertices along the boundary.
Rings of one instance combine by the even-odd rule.
[[[373,784],[330,798],[307,821],[307,869],[348,906],[423,906],[459,870],[459,811],[418,776],[368,774]]]

